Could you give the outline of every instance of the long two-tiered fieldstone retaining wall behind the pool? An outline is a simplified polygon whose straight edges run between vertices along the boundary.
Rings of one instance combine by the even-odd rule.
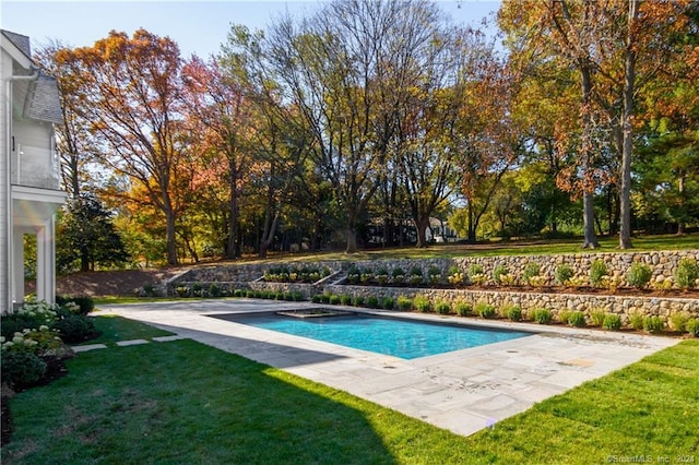
[[[343,272],[351,266],[358,269],[369,269],[376,272],[379,269],[387,269],[389,274],[395,267],[401,267],[405,273],[414,266],[423,270],[423,276],[427,278],[430,266],[439,267],[442,276],[447,276],[447,271],[451,266],[459,266],[464,273],[472,264],[479,264],[484,273],[493,275],[493,270],[497,265],[505,265],[508,271],[521,283],[521,276],[528,263],[537,263],[541,274],[546,276],[547,284],[553,285],[556,269],[560,264],[568,264],[573,270],[574,276],[589,276],[590,265],[594,260],[604,260],[608,273],[624,277],[633,262],[647,263],[652,271],[652,279],[659,276],[673,276],[677,263],[682,259],[694,259],[699,261],[699,249],[680,251],[654,251],[654,252],[585,252],[555,255],[514,255],[514,257],[459,257],[449,259],[393,259],[393,260],[366,260],[366,261],[321,261],[315,262],[313,266],[329,267],[333,276],[315,284],[295,283],[266,283],[260,278],[264,271],[276,264],[232,264],[221,266],[208,266],[190,270],[169,282],[165,283],[164,289],[168,295],[175,295],[177,286],[193,285],[196,283],[206,284],[217,283],[226,285],[227,288],[274,290],[274,291],[300,291],[304,297],[310,299],[316,294],[323,291],[337,295],[363,295],[365,297],[376,296],[393,297],[403,295],[414,297],[425,295],[430,300],[465,300],[475,305],[485,301],[496,308],[505,305],[518,305],[524,311],[533,308],[548,308],[554,313],[562,310],[590,311],[604,309],[607,312],[618,313],[625,323],[628,317],[636,312],[648,315],[660,315],[665,319],[674,312],[684,311],[690,315],[699,318],[699,299],[690,298],[665,298],[665,297],[626,297],[614,295],[578,295],[578,294],[555,294],[555,293],[529,293],[529,291],[502,291],[502,290],[469,290],[469,289],[433,289],[433,288],[406,288],[406,287],[371,287],[371,286],[346,286],[335,283],[342,278]],[[305,263],[297,263],[303,266]],[[330,284],[332,283],[332,284]]]

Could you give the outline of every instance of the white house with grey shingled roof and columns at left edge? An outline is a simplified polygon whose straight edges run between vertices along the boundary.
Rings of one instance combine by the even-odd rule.
[[[54,123],[61,122],[58,86],[32,62],[29,38],[0,31],[0,312],[24,300],[24,235],[36,236],[37,299],[56,288],[56,211],[60,157]]]

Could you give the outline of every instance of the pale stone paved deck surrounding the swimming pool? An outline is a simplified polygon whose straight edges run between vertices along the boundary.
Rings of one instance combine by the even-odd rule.
[[[536,333],[403,360],[208,317],[313,307],[321,306],[256,299],[187,300],[106,305],[100,306],[96,314],[117,314],[149,323],[463,436],[494,427],[497,421],[524,412],[537,402],[678,343],[678,339],[657,336],[399,313],[423,321]]]

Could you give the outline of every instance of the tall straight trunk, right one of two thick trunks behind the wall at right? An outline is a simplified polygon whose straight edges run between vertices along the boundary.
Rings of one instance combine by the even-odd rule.
[[[631,150],[633,146],[633,92],[636,85],[636,49],[633,44],[633,27],[638,13],[638,0],[629,0],[627,19],[626,49],[624,51],[624,112],[621,130],[624,131],[624,146],[621,152],[621,192],[619,206],[621,208],[621,224],[619,228],[619,248],[630,249],[631,246]]]

